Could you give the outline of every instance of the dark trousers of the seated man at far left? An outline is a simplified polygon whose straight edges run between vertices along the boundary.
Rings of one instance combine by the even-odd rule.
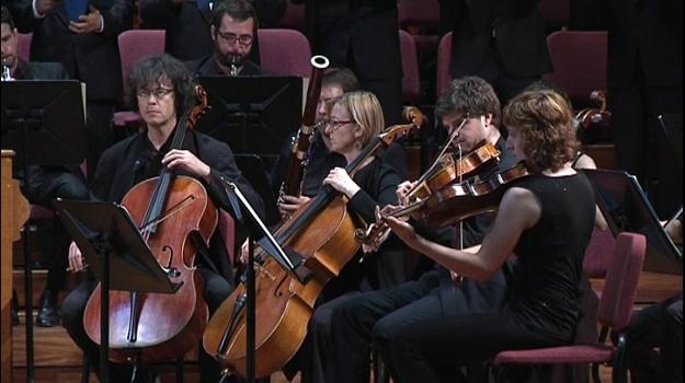
[[[22,183],[22,192],[31,204],[53,209],[55,198],[87,200],[89,198],[85,179],[80,171],[69,171],[61,166],[35,166],[28,169],[31,174],[31,190],[25,189],[23,173],[16,173]],[[47,271],[46,289],[54,293],[64,289],[67,278],[67,256],[71,237],[64,224],[55,218],[54,243],[50,246],[49,267]]]

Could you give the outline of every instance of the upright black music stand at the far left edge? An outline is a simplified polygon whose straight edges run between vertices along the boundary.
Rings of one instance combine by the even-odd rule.
[[[76,164],[85,156],[85,118],[76,80],[2,82],[2,148],[16,153],[24,193],[32,198],[30,165]],[[30,231],[24,230],[24,290],[33,297]],[[26,381],[34,380],[33,302],[26,299]]]

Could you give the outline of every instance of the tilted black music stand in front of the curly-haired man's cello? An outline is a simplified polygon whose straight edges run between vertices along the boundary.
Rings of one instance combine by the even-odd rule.
[[[110,380],[110,290],[174,293],[169,278],[128,211],[111,202],[53,202],[67,231],[102,283],[100,304],[100,376]]]

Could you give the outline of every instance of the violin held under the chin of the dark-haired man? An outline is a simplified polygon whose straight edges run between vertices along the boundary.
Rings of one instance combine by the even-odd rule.
[[[500,151],[492,143],[483,142],[461,159],[455,159],[454,153],[441,155],[434,165],[416,181],[412,190],[407,194],[403,206],[390,214],[395,218],[414,214],[423,208],[433,193],[452,183],[475,176],[486,166],[499,161],[500,154]],[[435,166],[435,164],[438,165]],[[354,233],[357,241],[364,244],[365,253],[378,251],[389,234],[390,228],[383,222],[372,223],[366,230],[359,229]]]

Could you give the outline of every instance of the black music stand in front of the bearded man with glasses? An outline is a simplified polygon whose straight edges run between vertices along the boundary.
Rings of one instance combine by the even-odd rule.
[[[277,156],[297,131],[302,111],[302,79],[297,77],[201,76],[210,105],[196,129],[236,153]]]

